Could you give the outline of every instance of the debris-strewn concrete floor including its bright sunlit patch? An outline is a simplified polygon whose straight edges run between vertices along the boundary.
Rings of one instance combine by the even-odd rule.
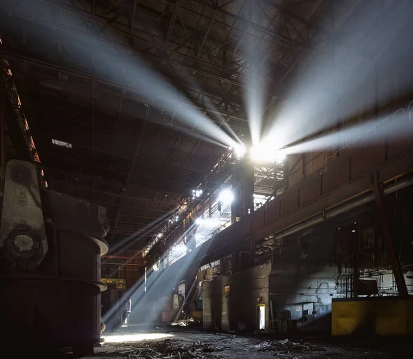
[[[408,340],[341,339],[334,338],[273,338],[212,334],[182,327],[143,329],[138,326],[121,327],[103,334],[106,342],[95,349],[90,358],[127,359],[264,359],[271,356],[281,359],[315,358],[407,358],[410,357]],[[286,339],[288,339],[286,341]],[[126,340],[126,342],[125,342]],[[130,340],[130,341],[129,341]],[[165,342],[165,340],[167,342]],[[159,352],[165,345],[180,347],[179,353]],[[194,346],[209,345],[213,351],[196,353]],[[155,349],[145,352],[143,348]],[[143,350],[142,350],[143,349]],[[189,350],[188,350],[189,349]],[[87,357],[88,358],[88,357]]]

